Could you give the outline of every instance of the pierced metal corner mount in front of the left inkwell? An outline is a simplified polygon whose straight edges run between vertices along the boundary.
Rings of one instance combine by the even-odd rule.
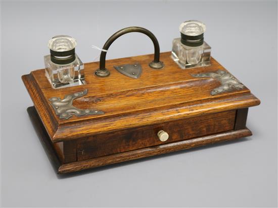
[[[82,97],[87,94],[87,89],[81,92],[75,92],[73,94],[65,95],[64,99],[60,97],[51,97],[51,106],[54,108],[56,115],[60,116],[60,119],[69,119],[74,114],[75,116],[84,116],[84,115],[95,115],[95,114],[104,114],[102,111],[94,109],[77,109],[72,106],[72,101],[77,97]]]

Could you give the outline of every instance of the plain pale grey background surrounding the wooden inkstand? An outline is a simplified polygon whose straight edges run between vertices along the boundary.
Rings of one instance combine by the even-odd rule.
[[[277,206],[277,2],[2,2],[2,206]],[[249,111],[253,136],[59,177],[26,108],[21,75],[43,68],[48,40],[77,39],[81,60],[94,61],[115,31],[150,29],[161,51],[178,26],[207,25],[212,56],[261,99]],[[107,58],[153,53],[143,34],[128,34]]]

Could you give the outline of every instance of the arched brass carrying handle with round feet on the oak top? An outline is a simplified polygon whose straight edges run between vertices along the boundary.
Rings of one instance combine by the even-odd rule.
[[[120,36],[126,34],[126,33],[130,33],[130,32],[140,32],[143,33],[145,35],[147,35],[148,37],[151,38],[151,40],[154,43],[154,47],[155,47],[155,54],[154,54],[154,61],[152,61],[149,66],[153,69],[161,69],[163,68],[164,64],[163,62],[159,61],[159,56],[160,56],[160,50],[159,50],[159,43],[155,37],[155,35],[150,31],[147,30],[143,27],[126,27],[123,28],[117,32],[115,32],[104,44],[103,49],[104,50],[108,50],[108,48],[110,47],[110,45]],[[100,57],[100,68],[98,70],[96,70],[95,74],[99,77],[106,77],[110,75],[110,72],[108,71],[108,69],[105,68],[105,59],[106,59],[106,53],[107,51],[102,51],[101,52],[101,57]]]

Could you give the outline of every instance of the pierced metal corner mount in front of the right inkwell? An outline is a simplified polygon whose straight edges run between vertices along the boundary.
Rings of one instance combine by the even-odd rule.
[[[213,79],[217,79],[221,82],[221,86],[213,89],[210,94],[215,95],[218,93],[221,93],[223,91],[230,91],[233,89],[242,89],[244,88],[244,85],[236,79],[233,75],[230,73],[224,71],[224,70],[217,70],[215,72],[208,72],[208,73],[202,73],[202,74],[192,74],[194,77],[210,77]]]

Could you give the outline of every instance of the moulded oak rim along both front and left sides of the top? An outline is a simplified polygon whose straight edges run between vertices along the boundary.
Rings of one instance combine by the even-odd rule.
[[[246,92],[223,97],[212,97],[191,102],[178,103],[171,106],[119,114],[113,117],[95,118],[82,122],[58,124],[53,117],[55,112],[48,105],[41,89],[32,76],[23,75],[22,80],[34,102],[34,106],[42,119],[42,123],[53,142],[68,141],[140,126],[159,124],[177,119],[190,118],[207,113],[236,110],[257,106],[260,100],[252,93]],[[34,100],[35,99],[35,100]]]

